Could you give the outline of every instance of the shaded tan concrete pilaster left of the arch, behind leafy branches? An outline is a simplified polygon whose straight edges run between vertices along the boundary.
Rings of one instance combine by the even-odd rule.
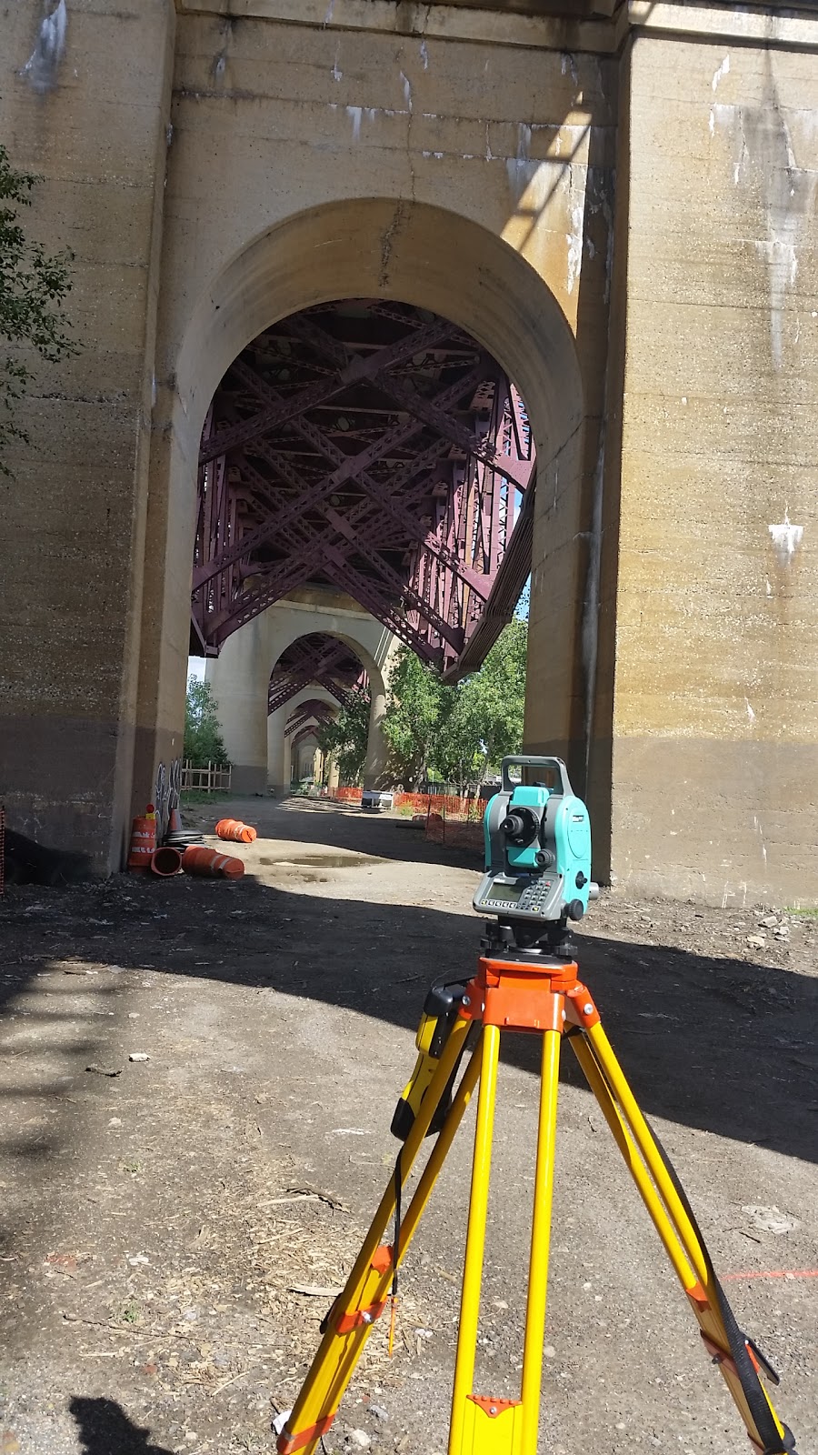
[[[41,842],[118,863],[131,800],[170,0],[0,7],[0,137],[71,249],[76,358],[38,368],[0,479],[0,789]],[[122,65],[124,54],[128,65]]]

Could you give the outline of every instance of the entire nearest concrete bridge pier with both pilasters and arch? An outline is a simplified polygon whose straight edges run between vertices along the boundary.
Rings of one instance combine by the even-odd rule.
[[[127,32],[108,0],[68,6],[39,92],[39,7],[10,13],[3,135],[45,178],[36,234],[77,253],[83,345],[41,372],[10,461],[16,826],[118,867],[131,799],[180,751],[213,391],[288,313],[399,298],[528,404],[527,745],[587,784],[597,872],[817,901],[818,19],[667,3],[569,35],[431,6],[415,36],[393,7],[352,31],[282,9],[250,0],[226,33],[185,0]],[[208,671],[224,695],[234,662],[236,761],[266,792],[250,626]]]

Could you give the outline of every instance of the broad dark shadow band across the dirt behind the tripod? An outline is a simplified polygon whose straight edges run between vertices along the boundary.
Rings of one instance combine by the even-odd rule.
[[[323,815],[288,810],[281,816],[288,837],[311,834],[316,825],[319,838],[306,842],[327,841]],[[403,840],[394,821],[376,821],[373,828],[373,853],[380,853],[381,834],[394,837],[397,828]],[[354,829],[342,819],[339,832],[351,848],[361,848],[362,837],[370,837],[360,818]],[[451,863],[412,831],[406,834],[419,858]],[[474,867],[473,860],[467,863]],[[70,954],[79,965],[114,963],[268,986],[415,1027],[428,982],[441,973],[473,973],[480,938],[480,921],[469,912],[293,893],[249,877],[234,888],[183,876],[159,883],[119,877],[17,895],[25,899],[9,899],[3,909],[6,938],[15,936],[15,920],[17,936],[26,924],[32,953],[0,965],[0,1005],[55,956]],[[39,904],[32,905],[32,895]],[[818,979],[595,936],[579,937],[579,966],[648,1113],[818,1160]],[[58,1018],[54,997],[49,1005],[35,1014]],[[102,1056],[100,1037],[98,1014],[87,1021],[87,1039],[76,1043],[83,1069],[86,1058]],[[32,1053],[25,1052],[23,1061]],[[507,1037],[505,1056],[524,1069],[539,1068],[534,1037]],[[579,1077],[571,1056],[563,1064],[568,1080]],[[405,1069],[399,1068],[397,1080]],[[38,1091],[48,1088],[39,1084]],[[25,1096],[25,1085],[12,1094]],[[49,1144],[15,1151],[47,1155]]]

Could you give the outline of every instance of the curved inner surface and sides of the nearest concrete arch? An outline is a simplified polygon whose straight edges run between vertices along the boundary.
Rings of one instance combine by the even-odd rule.
[[[146,559],[150,608],[143,620],[140,677],[141,714],[157,728],[154,758],[167,752],[167,733],[178,732],[182,720],[189,578],[179,567],[192,559],[192,482],[213,393],[230,362],[263,327],[311,304],[365,295],[444,314],[514,378],[528,407],[539,461],[533,630],[546,615],[537,595],[546,563],[549,599],[573,604],[582,598],[582,377],[572,329],[544,278],[498,233],[437,205],[370,196],[310,208],[237,250],[202,290],[183,324],[176,322],[180,336],[164,340],[172,387],[163,387],[157,402],[156,413],[166,428],[154,432],[151,453],[153,531],[148,521],[148,537],[159,538],[164,550],[156,549]],[[265,652],[261,620],[236,633],[220,658],[220,663],[237,652],[252,658],[252,679],[261,672],[258,653]],[[325,626],[316,623],[311,630]],[[344,631],[341,627],[338,634]],[[576,634],[573,626],[550,642],[547,671],[533,695],[533,741],[562,746],[572,736]],[[214,671],[218,695],[226,669]],[[261,695],[261,687],[258,691]],[[242,748],[237,761],[261,768],[266,732],[258,713],[253,716],[258,741]],[[143,765],[146,781],[147,768]],[[138,783],[137,796],[143,792]]]

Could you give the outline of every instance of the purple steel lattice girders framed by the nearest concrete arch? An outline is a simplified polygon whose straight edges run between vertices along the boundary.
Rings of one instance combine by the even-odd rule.
[[[285,319],[205,422],[191,650],[326,583],[444,671],[482,659],[528,573],[533,471],[520,396],[454,324],[367,300]]]

